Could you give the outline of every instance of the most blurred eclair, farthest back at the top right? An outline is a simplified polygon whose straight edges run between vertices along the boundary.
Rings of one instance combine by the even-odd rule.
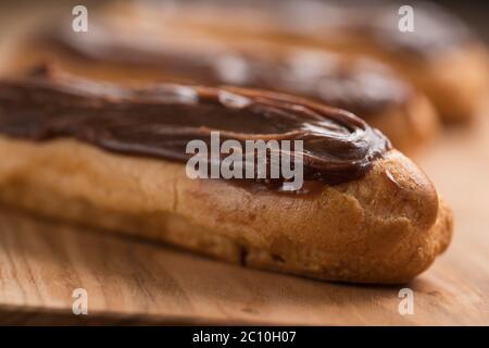
[[[277,5],[265,0],[151,8],[136,1],[133,10],[118,11],[160,17],[175,30],[366,54],[424,91],[447,122],[467,122],[487,107],[487,48],[460,18],[435,3],[286,0]]]

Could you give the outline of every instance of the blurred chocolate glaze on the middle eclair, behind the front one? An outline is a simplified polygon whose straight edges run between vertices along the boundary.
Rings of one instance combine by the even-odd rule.
[[[387,108],[405,104],[412,89],[387,66],[364,59],[347,59],[333,52],[288,48],[238,48],[218,38],[168,33],[131,33],[120,23],[92,18],[90,30],[48,30],[42,40],[68,59],[97,66],[100,63],[125,67],[151,67],[155,78],[204,85],[234,85],[289,92],[349,110],[363,119],[379,115]],[[124,23],[126,25],[126,23]],[[90,64],[85,65],[90,69]],[[125,72],[122,70],[122,74]],[[134,77],[134,75],[128,75]]]

